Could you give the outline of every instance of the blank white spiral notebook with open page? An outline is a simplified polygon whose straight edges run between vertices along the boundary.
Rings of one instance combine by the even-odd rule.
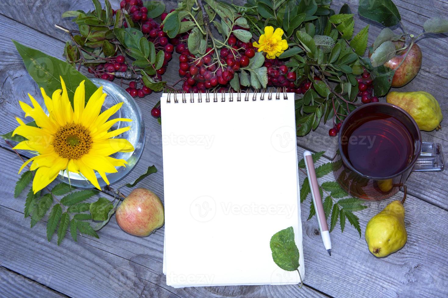
[[[294,94],[164,93],[161,110],[167,285],[299,283],[269,246],[292,226],[303,279]]]

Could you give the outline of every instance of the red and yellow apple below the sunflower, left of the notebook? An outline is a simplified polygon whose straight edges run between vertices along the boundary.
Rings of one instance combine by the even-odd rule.
[[[116,222],[131,235],[145,237],[164,225],[164,206],[149,189],[134,189],[116,210]]]

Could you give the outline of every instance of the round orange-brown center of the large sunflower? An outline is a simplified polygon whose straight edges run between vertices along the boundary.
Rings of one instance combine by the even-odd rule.
[[[53,147],[62,158],[80,159],[92,147],[92,138],[86,127],[69,123],[56,131]]]

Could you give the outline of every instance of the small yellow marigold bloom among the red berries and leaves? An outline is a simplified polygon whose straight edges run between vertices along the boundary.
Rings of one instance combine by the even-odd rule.
[[[274,32],[274,27],[266,26],[264,34],[261,34],[258,43],[254,42],[253,46],[258,48],[258,52],[266,52],[267,59],[275,59],[288,49],[288,42],[282,37],[283,30],[281,28],[277,28]]]

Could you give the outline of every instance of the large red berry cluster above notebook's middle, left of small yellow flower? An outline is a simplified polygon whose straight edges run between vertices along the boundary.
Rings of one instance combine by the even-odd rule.
[[[163,15],[162,15],[163,17]],[[186,19],[182,20],[186,21]],[[233,29],[244,29],[234,26]],[[219,51],[219,62],[215,51],[208,47],[206,55],[196,57],[188,50],[186,41],[190,32],[172,38],[179,56],[179,75],[183,77],[182,90],[185,92],[205,92],[205,90],[220,87],[220,91],[228,90],[229,81],[235,71],[249,65],[249,59],[254,57],[255,50],[250,42],[241,42],[230,34],[226,45]],[[220,64],[224,66],[220,67]]]

